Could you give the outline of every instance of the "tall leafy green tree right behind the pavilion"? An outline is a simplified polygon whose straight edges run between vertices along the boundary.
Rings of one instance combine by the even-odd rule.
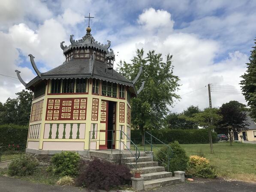
[[[145,81],[145,86],[137,97],[131,99],[131,106],[133,127],[140,129],[144,144],[143,132],[162,128],[164,117],[169,111],[168,106],[173,104],[174,99],[179,98],[174,93],[178,89],[179,78],[173,75],[171,55],[168,54],[163,62],[162,54],[156,54],[155,51],[149,51],[145,58],[143,49],[138,49],[136,54],[132,63],[120,62],[118,70],[120,74],[133,80],[139,72],[139,67],[143,67],[136,87],[138,90],[142,81]]]

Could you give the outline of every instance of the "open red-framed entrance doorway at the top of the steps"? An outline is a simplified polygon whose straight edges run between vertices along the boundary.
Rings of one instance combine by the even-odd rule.
[[[100,123],[100,134],[103,134],[100,138],[103,140],[100,142],[99,149],[114,149],[116,129],[116,102],[102,100]]]

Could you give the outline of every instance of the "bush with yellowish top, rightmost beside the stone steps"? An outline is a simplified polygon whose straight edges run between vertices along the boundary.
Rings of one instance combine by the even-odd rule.
[[[215,178],[217,176],[209,160],[200,156],[190,156],[186,173],[202,178]]]

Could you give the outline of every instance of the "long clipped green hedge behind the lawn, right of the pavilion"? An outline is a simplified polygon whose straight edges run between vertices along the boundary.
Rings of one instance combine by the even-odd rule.
[[[206,144],[209,143],[208,130],[206,129],[159,129],[152,130],[151,134],[160,141],[168,144],[178,141],[180,144]],[[212,141],[217,142],[217,133],[211,132]],[[140,130],[131,130],[131,139],[135,144],[141,144],[142,135]],[[146,134],[146,140],[150,141],[150,136]],[[154,144],[159,141],[152,139]],[[146,142],[147,143],[147,142]]]

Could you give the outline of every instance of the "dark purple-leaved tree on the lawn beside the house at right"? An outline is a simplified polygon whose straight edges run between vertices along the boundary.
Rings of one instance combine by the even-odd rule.
[[[241,130],[247,129],[247,126],[249,126],[247,115],[244,112],[245,107],[246,105],[238,101],[230,101],[220,107],[219,114],[223,116],[223,119],[219,122],[219,125],[228,130],[230,145],[232,145],[234,133],[240,133]]]

